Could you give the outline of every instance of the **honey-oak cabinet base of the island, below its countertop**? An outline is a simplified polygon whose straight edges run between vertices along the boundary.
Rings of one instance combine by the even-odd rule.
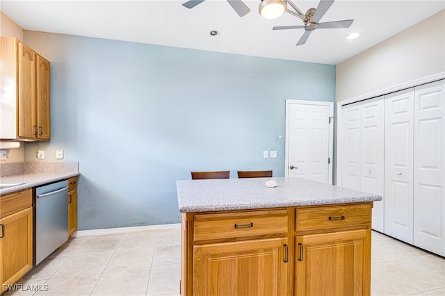
[[[370,295],[372,207],[182,213],[181,295]]]

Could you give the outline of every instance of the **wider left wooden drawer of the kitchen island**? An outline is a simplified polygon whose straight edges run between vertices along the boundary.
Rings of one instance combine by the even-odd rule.
[[[240,238],[287,232],[287,210],[203,213],[193,218],[193,239]]]

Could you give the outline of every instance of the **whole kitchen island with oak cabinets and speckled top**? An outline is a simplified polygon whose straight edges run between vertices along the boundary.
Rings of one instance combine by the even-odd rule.
[[[382,197],[269,179],[177,181],[181,295],[369,295]]]

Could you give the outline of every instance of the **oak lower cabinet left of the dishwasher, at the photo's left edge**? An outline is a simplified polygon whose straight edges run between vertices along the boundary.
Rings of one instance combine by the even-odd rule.
[[[1,293],[33,267],[32,191],[0,197]]]

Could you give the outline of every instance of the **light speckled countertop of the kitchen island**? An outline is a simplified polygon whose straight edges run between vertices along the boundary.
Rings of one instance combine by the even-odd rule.
[[[278,186],[267,188],[266,181]],[[375,202],[380,195],[293,178],[180,180],[176,183],[179,211],[196,213],[317,204]]]

